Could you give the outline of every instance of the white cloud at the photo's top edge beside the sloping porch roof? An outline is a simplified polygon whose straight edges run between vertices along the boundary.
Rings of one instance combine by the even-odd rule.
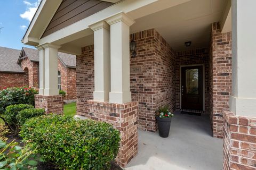
[[[41,0],[36,0],[34,3],[30,3],[28,1],[23,1],[23,3],[27,6],[27,9],[24,13],[20,14],[20,17],[31,21],[33,19],[34,14],[40,4]]]

